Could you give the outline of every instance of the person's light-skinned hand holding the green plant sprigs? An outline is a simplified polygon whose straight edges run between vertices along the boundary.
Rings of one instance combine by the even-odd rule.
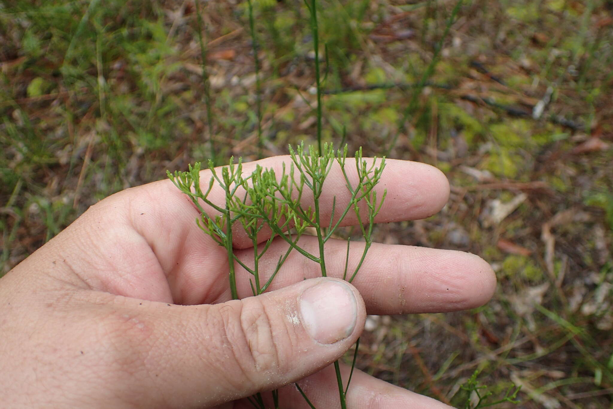
[[[289,158],[243,170],[282,162]],[[208,182],[210,172],[201,179]],[[320,200],[324,212],[334,195],[337,206],[347,203],[344,186],[334,167]],[[390,159],[376,186],[385,188],[378,222],[425,218],[449,194],[435,168]],[[209,199],[222,204],[223,192],[213,189]],[[200,231],[197,215],[169,180],[127,189],[89,208],[0,279],[0,402],[238,409],[251,407],[242,398],[281,388],[284,405],[307,408],[292,384],[299,381],[315,407],[335,408],[330,364],[356,342],[367,313],[473,308],[495,286],[489,265],[473,254],[373,243],[353,285],[314,278],[316,264],[292,253],[270,292],[257,297],[249,297],[248,273],[237,266],[238,294],[246,298],[230,300],[226,251]],[[343,223],[356,223],[351,212]],[[251,241],[234,237],[235,254],[248,262]],[[303,236],[300,246],[317,243]],[[283,240],[273,242],[260,262],[263,280],[286,249]],[[342,277],[345,250],[344,241],[326,243],[330,277]],[[360,243],[351,253],[359,259]],[[346,380],[348,368],[342,371]],[[351,409],[447,408],[357,370],[347,402]]]

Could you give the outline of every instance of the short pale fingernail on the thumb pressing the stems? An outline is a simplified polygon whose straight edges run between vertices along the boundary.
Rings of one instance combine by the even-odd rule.
[[[300,315],[314,340],[335,343],[349,337],[356,327],[356,297],[345,283],[324,281],[302,293]]]

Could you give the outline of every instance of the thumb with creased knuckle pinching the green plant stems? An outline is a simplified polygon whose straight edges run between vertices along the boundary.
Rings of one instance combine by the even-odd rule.
[[[172,407],[208,407],[307,377],[356,342],[366,316],[356,288],[335,278],[168,312],[155,318],[147,381]]]

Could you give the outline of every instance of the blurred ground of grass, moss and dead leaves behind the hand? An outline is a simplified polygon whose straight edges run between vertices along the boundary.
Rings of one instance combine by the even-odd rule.
[[[521,386],[500,408],[613,408],[613,1],[318,0],[318,28],[324,141],[451,181],[379,241],[499,282],[369,317],[359,367],[457,407],[478,371],[489,402]],[[316,142],[313,40],[302,0],[0,0],[0,275],[166,169]]]

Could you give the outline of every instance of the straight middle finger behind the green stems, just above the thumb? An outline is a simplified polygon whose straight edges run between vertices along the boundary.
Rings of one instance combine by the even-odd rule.
[[[364,242],[351,242],[347,258],[347,242],[330,239],[325,245],[328,277],[346,279],[357,267]],[[316,237],[303,236],[299,246],[316,256]],[[277,237],[259,261],[261,285],[272,275],[276,262],[289,245]],[[253,269],[253,249],[235,250],[237,257]],[[321,276],[319,264],[292,251],[272,280],[267,291],[283,288],[307,278]],[[252,295],[249,279],[253,276],[237,264],[238,295]],[[483,259],[471,253],[405,245],[373,243],[364,264],[352,284],[362,294],[368,314],[403,314],[451,312],[478,307],[493,294],[495,275]]]

